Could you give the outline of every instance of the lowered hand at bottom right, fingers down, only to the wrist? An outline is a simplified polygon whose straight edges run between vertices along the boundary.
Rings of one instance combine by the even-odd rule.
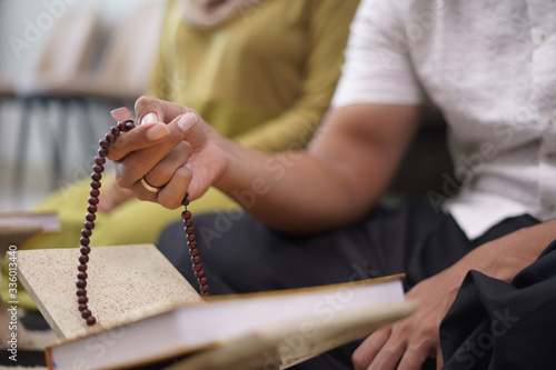
[[[381,328],[369,336],[354,352],[355,369],[421,369],[427,358],[443,367],[440,322],[456,299],[463,281],[460,273],[447,269],[421,281],[407,292],[419,308],[409,318]]]

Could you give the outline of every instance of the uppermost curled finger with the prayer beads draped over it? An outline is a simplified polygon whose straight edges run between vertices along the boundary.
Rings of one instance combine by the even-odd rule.
[[[152,148],[170,136],[170,130],[165,123],[148,123],[136,127],[133,130],[121,134],[108,147],[107,158],[119,161],[129,153]]]

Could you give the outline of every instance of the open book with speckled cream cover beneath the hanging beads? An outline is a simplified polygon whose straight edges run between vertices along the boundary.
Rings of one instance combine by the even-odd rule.
[[[88,328],[75,296],[78,249],[19,251],[21,282],[60,338],[50,369],[287,368],[409,314],[399,277],[200,299],[155,246],[95,248]]]

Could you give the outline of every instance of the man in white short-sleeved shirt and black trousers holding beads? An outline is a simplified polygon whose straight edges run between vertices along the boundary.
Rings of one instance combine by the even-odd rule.
[[[500,287],[556,238],[556,38],[548,33],[555,16],[555,4],[525,0],[364,0],[332,108],[306,151],[255,151],[218,134],[191,108],[141,98],[139,119],[157,122],[109,150],[118,183],[171,209],[186,191],[198,199],[211,186],[244,206],[250,216],[232,214],[227,223],[222,214],[193,216],[216,293],[347,281],[355,267],[369,277],[407,273],[406,297],[420,302],[416,313],[299,369],[349,369],[351,360],[356,369],[418,369],[430,364],[427,358],[440,368],[440,344],[449,340],[440,339],[440,323],[468,272]],[[441,209],[418,200],[385,208],[378,200],[427,102],[449,124],[463,188]],[[165,137],[150,140],[155,129]],[[141,160],[152,152],[163,158]],[[170,227],[159,248],[192,281],[183,243],[182,226]],[[554,290],[552,297],[545,308],[554,312]],[[554,319],[543,319],[537,323],[554,328]],[[536,331],[519,349],[519,337],[506,330],[514,347],[496,351],[494,368],[515,368],[504,362],[514,352],[536,358],[535,366],[549,363],[540,356],[554,360],[543,328],[527,330]],[[498,342],[512,340],[490,349]],[[486,352],[475,353],[486,369],[488,359],[477,357]]]

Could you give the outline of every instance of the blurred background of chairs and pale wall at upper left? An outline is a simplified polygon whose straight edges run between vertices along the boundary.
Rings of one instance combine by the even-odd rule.
[[[89,174],[109,111],[132,108],[147,84],[162,8],[0,0],[0,212]]]

